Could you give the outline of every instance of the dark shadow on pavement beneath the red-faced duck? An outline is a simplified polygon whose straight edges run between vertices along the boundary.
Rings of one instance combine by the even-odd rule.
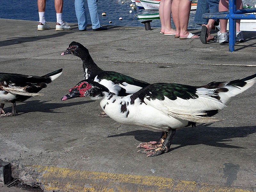
[[[243,127],[212,127],[211,124],[197,125],[196,128],[186,127],[176,131],[172,144],[180,145],[173,149],[188,145],[209,145],[220,148],[243,148],[234,146],[234,138],[244,138],[256,132],[256,126]],[[140,142],[159,141],[162,132],[153,132],[149,130],[137,130],[131,132],[110,135],[108,137],[134,136]]]

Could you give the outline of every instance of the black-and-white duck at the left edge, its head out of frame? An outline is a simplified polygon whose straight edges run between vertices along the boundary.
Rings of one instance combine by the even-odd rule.
[[[62,69],[44,76],[21,75],[16,73],[0,73],[0,114],[1,116],[15,116],[16,102],[22,102],[30,97],[42,95],[38,93],[47,84],[62,74]],[[12,103],[12,113],[4,113],[4,103]]]

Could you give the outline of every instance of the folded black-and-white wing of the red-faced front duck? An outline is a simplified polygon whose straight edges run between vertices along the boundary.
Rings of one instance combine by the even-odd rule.
[[[219,121],[210,116],[225,107],[213,90],[182,84],[152,84],[133,94],[131,102],[136,98],[168,116],[192,122]]]

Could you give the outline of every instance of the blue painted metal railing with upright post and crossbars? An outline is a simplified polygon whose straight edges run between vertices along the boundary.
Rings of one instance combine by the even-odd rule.
[[[228,19],[229,30],[228,30],[228,44],[229,52],[235,51],[236,43],[236,19],[256,19],[255,14],[245,14],[256,12],[256,8],[238,9],[236,10],[236,0],[228,0],[228,11],[216,12],[216,13],[205,13],[203,14],[204,19]]]

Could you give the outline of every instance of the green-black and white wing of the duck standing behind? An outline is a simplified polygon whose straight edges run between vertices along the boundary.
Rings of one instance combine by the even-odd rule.
[[[108,81],[117,84],[121,88],[125,89],[125,93],[135,93],[139,91],[142,87],[148,86],[149,83],[140,81],[130,76],[126,76],[121,73],[117,73],[114,71],[104,71],[103,73],[99,74],[97,78],[100,80],[105,79]]]

